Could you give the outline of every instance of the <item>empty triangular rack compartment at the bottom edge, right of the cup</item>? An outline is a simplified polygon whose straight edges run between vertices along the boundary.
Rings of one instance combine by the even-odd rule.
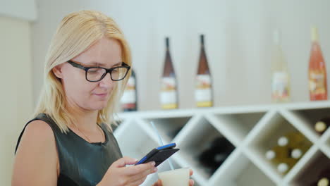
[[[237,149],[214,173],[208,185],[223,185],[224,183],[227,186],[276,185]]]

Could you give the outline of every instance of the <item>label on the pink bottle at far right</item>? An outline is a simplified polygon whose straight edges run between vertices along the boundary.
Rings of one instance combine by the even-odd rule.
[[[310,94],[326,94],[326,74],[324,70],[310,70]]]

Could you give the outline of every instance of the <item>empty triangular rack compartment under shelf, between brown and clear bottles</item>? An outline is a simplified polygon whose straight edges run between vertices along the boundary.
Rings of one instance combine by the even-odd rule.
[[[224,135],[238,147],[246,135],[259,122],[266,112],[255,113],[221,113],[207,116],[214,127],[224,132]]]

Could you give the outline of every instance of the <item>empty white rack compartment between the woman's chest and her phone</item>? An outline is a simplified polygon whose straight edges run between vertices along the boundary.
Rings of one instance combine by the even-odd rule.
[[[128,119],[114,132],[123,156],[141,159],[147,152],[158,147],[148,132],[141,127],[141,120]]]

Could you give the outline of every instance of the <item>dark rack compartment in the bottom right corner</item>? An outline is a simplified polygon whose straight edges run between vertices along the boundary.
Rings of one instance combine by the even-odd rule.
[[[303,168],[295,174],[292,180],[287,185],[317,185],[322,171],[326,171],[326,175],[330,174],[330,159],[321,151],[316,152],[310,156],[307,162],[304,163]]]

